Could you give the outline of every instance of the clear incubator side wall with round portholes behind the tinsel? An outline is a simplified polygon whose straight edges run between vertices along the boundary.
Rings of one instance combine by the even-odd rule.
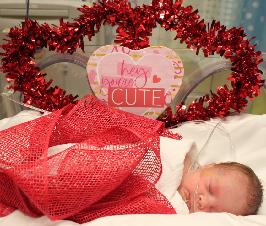
[[[86,45],[85,53],[78,49],[73,55],[56,53],[47,49],[36,51],[36,66],[40,68],[42,73],[47,73],[46,81],[53,79],[51,86],[57,85],[59,88],[66,90],[66,94],[78,95],[77,99],[80,100],[87,94],[93,94],[86,75],[86,65],[89,57],[99,47]],[[231,83],[227,80],[227,77],[231,74],[232,66],[230,61],[222,59],[220,56],[205,58],[202,52],[197,56],[193,51],[187,49],[173,50],[180,56],[184,65],[184,79],[181,89],[170,105],[173,112],[175,112],[176,104],[185,102],[186,105],[189,105],[195,99],[205,94],[210,94],[210,90],[216,92],[219,84],[227,84],[228,88],[231,89]],[[262,63],[263,65],[264,62]],[[23,101],[21,93],[16,92],[13,94],[12,90],[6,89],[9,85],[4,76],[1,76],[1,92]],[[265,96],[264,89],[261,89],[261,92],[261,97],[256,97],[255,100]],[[10,102],[9,100],[5,101]],[[248,106],[245,108],[246,112],[252,112],[253,103],[254,101],[249,101]],[[10,102],[1,108],[2,117],[6,114],[13,116],[13,114],[27,109],[27,107],[18,106],[17,104],[13,105],[14,103]],[[261,108],[263,108],[262,105],[260,105]],[[5,109],[8,109],[7,112]]]

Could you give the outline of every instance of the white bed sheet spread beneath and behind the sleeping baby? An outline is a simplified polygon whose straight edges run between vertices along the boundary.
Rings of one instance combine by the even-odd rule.
[[[35,111],[23,111],[18,115],[3,119],[0,121],[0,130],[14,126],[24,121],[28,121],[41,115]],[[220,118],[213,118],[210,122],[219,122]],[[240,114],[226,117],[221,125],[230,133],[231,139],[236,148],[236,160],[240,163],[249,165],[259,178],[263,180],[265,187],[266,181],[266,115]],[[174,132],[180,133],[183,138],[192,138],[195,140],[198,150],[203,147],[212,127],[207,125],[195,126],[194,124],[185,124]],[[207,164],[210,161],[235,160],[230,154],[230,142],[228,137],[217,130],[213,133],[209,145],[200,156],[200,163]],[[212,153],[212,154],[211,154]],[[100,225],[192,225],[213,226],[213,225],[250,225],[266,226],[266,203],[259,210],[259,215],[253,216],[235,216],[229,213],[192,213],[192,214],[139,214],[139,215],[121,215],[110,216],[96,219],[92,222],[82,225],[100,226]],[[6,217],[0,218],[1,226],[20,225],[20,226],[71,226],[79,225],[77,223],[60,220],[51,221],[46,216],[32,218],[16,210]]]

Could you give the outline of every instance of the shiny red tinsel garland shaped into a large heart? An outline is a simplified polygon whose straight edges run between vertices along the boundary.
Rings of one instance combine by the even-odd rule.
[[[46,74],[38,73],[32,61],[37,49],[49,46],[50,51],[61,51],[72,54],[77,48],[84,51],[83,37],[91,38],[100,30],[101,24],[118,25],[116,44],[134,50],[149,46],[148,36],[152,29],[160,24],[166,30],[174,31],[176,39],[185,42],[187,48],[202,49],[204,56],[220,54],[232,62],[232,89],[219,87],[217,94],[205,95],[198,102],[193,102],[187,108],[184,103],[176,105],[177,113],[173,115],[171,109],[160,117],[166,126],[172,126],[187,120],[207,120],[214,116],[227,116],[230,108],[240,112],[247,105],[246,98],[260,94],[263,80],[259,74],[258,64],[263,61],[261,52],[255,52],[249,44],[250,40],[243,40],[246,36],[242,28],[226,29],[220,22],[213,21],[206,26],[204,20],[199,21],[198,11],[191,6],[182,7],[182,0],[173,3],[172,0],[153,0],[150,6],[143,5],[132,8],[127,0],[98,1],[93,7],[78,8],[83,14],[75,22],[63,22],[60,27],[50,27],[48,24],[39,25],[28,18],[22,22],[21,28],[12,28],[8,35],[11,40],[1,45],[6,52],[1,55],[3,72],[7,73],[8,82],[14,80],[9,88],[24,94],[24,103],[38,106],[41,109],[55,111],[69,103],[76,103],[77,96],[65,96],[66,91],[49,87],[52,80],[46,82]],[[95,30],[96,28],[96,30]],[[203,102],[209,105],[203,107]]]

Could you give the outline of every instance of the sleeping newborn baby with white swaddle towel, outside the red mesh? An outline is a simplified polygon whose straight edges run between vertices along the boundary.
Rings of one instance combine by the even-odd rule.
[[[176,142],[160,137],[163,171],[155,184],[177,213],[228,212],[245,216],[258,212],[263,187],[252,169],[240,163],[226,162],[188,170],[197,153],[196,145],[190,139],[177,142],[178,150],[173,151],[175,149],[169,145],[176,145]]]

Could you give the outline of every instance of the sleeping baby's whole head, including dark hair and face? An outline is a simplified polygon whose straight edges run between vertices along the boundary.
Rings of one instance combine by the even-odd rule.
[[[198,193],[195,195],[197,184]],[[187,202],[189,213],[252,215],[258,212],[263,197],[261,181],[253,170],[236,162],[212,163],[203,166],[202,170],[189,170],[183,175],[178,190],[190,200]]]

